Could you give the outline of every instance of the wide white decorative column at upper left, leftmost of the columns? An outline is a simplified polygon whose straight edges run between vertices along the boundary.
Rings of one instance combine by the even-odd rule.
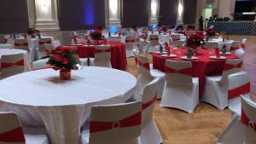
[[[30,27],[41,32],[59,31],[56,0],[27,0]]]

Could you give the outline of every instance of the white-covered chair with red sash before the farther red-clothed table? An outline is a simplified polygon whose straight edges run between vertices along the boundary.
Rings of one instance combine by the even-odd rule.
[[[95,58],[90,58],[90,66],[112,67],[111,62],[111,46],[97,45],[95,49]]]

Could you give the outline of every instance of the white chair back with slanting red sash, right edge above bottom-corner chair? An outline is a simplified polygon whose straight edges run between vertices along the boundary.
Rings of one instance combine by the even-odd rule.
[[[250,78],[247,72],[238,72],[231,74],[229,77],[229,100],[245,95],[250,95]]]

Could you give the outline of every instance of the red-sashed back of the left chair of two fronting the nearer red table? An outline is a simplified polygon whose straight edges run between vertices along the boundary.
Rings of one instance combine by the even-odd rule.
[[[192,63],[190,61],[166,60],[166,82],[167,83],[192,83]]]

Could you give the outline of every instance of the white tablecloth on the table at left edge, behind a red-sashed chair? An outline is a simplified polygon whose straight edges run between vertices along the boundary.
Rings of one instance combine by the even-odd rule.
[[[28,59],[27,51],[22,49],[0,49],[0,60],[2,55],[16,55],[24,54],[25,70],[31,70],[30,61]]]

